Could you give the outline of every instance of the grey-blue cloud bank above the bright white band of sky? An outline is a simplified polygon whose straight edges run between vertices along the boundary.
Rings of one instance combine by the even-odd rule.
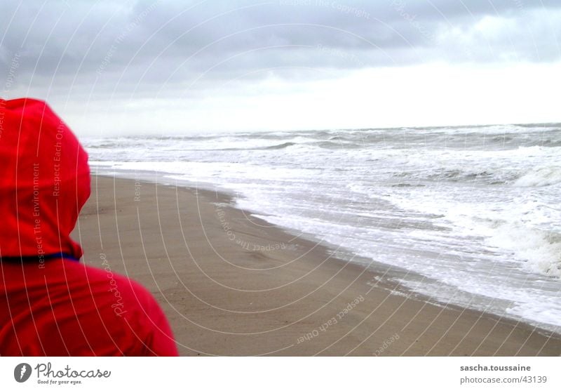
[[[271,72],[309,78],[431,61],[546,62],[560,58],[560,6],[555,0],[8,0],[0,14],[0,72],[13,80],[6,94],[42,88],[102,96],[212,88]]]

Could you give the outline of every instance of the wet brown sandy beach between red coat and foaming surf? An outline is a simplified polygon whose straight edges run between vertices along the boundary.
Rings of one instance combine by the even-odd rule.
[[[379,267],[334,258],[229,204],[226,194],[94,175],[73,237],[83,262],[107,259],[154,293],[182,355],[561,354],[556,334],[428,304]]]

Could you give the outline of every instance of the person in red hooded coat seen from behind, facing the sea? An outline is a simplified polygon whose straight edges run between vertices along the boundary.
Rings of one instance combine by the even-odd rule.
[[[79,262],[88,156],[44,102],[0,100],[0,355],[175,356],[143,286]]]

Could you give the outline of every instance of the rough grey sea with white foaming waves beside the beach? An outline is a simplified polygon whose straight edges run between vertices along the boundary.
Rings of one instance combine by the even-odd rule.
[[[229,192],[407,291],[561,331],[561,124],[83,143],[94,173]]]

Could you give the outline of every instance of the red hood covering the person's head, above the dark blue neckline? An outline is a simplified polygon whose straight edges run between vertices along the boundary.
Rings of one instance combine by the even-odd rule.
[[[70,232],[90,196],[88,155],[45,102],[0,99],[0,256],[82,256]]]

